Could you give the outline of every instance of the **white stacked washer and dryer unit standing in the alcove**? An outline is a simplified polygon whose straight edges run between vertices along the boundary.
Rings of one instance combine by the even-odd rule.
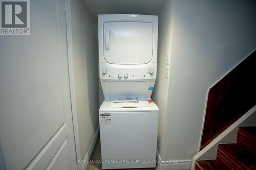
[[[102,168],[155,167],[158,17],[99,15],[98,34]]]

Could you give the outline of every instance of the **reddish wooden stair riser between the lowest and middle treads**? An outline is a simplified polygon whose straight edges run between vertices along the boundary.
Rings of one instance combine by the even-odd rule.
[[[224,149],[221,147],[218,147],[217,151],[217,158],[218,161],[220,161],[222,164],[226,165],[230,169],[234,170],[245,170],[248,169],[246,166],[244,166],[241,162],[238,162],[237,160],[234,160],[234,157],[232,157],[230,154],[228,154]],[[249,169],[248,169],[249,170]]]

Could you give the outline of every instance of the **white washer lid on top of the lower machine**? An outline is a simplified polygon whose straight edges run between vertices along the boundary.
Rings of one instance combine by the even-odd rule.
[[[138,108],[150,107],[145,98],[111,98],[108,107]]]

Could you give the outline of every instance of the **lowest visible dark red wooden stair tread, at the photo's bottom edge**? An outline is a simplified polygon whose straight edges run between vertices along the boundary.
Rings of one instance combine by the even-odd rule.
[[[228,169],[217,160],[200,160],[200,161],[197,161],[197,163],[200,166],[200,168],[204,170]]]

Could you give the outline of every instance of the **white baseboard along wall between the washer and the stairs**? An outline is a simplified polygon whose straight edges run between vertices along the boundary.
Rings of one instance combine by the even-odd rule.
[[[192,160],[175,160],[174,163],[165,163],[159,153],[157,152],[158,169],[159,170],[178,170],[178,169],[190,169]],[[161,163],[162,162],[162,163]]]

